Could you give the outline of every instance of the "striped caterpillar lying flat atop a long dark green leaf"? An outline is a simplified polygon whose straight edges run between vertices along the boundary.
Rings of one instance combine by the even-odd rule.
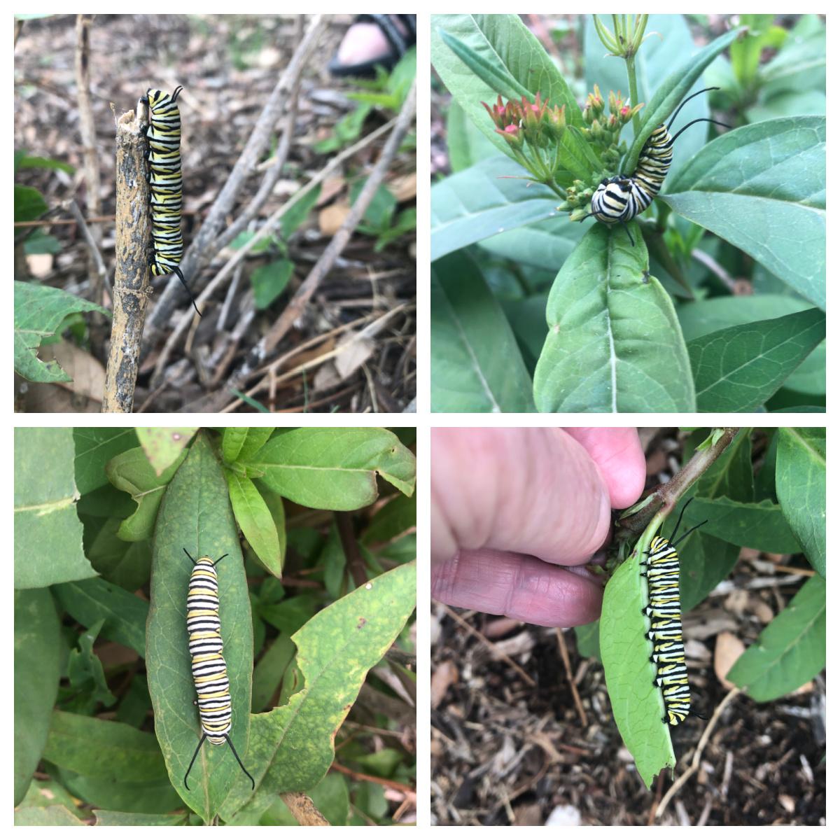
[[[230,740],[231,701],[228,666],[222,655],[222,626],[218,620],[218,579],[216,563],[225,559],[223,554],[216,563],[209,557],[193,560],[184,549],[184,554],[192,560],[190,587],[186,596],[186,630],[190,636],[190,655],[192,656],[192,680],[196,685],[198,715],[202,723],[202,737],[195,753],[192,753],[190,766],[184,774],[184,786],[190,790],[186,777],[195,764],[198,750],[204,739],[213,744],[228,742],[234,751],[242,772],[251,780],[251,789],[255,787],[254,777],[249,774],[239,759],[234,742]]]

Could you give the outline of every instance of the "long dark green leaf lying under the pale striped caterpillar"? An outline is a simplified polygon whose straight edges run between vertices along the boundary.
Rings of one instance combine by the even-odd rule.
[[[233,701],[230,738],[245,767],[258,779],[254,745],[248,748],[254,659],[248,583],[222,466],[205,433],[198,433],[166,488],[157,517],[146,670],[155,710],[155,734],[171,784],[186,804],[209,822],[242,770],[228,744],[217,747],[205,742],[190,774],[191,790],[184,787],[184,774],[200,732],[186,633],[186,593],[192,564],[184,549],[195,559],[228,554],[216,566],[216,574],[224,659]],[[250,793],[251,785],[244,781]]]

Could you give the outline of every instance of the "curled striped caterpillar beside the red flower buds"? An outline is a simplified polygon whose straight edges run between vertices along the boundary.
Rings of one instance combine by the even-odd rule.
[[[601,181],[592,196],[591,213],[586,213],[583,218],[594,216],[604,224],[621,222],[624,229],[627,230],[627,236],[630,237],[630,244],[634,245],[633,235],[627,228],[627,222],[638,216],[639,213],[643,213],[654,202],[654,197],[658,195],[663,181],[668,175],[671,160],[674,158],[672,147],[680,134],[694,123],[715,123],[729,128],[726,123],[720,123],[717,119],[701,117],[692,119],[673,137],[669,134],[677,114],[680,113],[686,102],[694,97],[699,97],[701,93],[706,93],[706,91],[717,91],[719,89],[717,87],[704,87],[703,90],[692,93],[690,97],[686,97],[680,102],[679,108],[674,112],[674,116],[671,117],[667,127],[664,123],[660,123],[650,137],[645,140],[642,151],[638,155],[638,163],[633,175],[617,175]]]

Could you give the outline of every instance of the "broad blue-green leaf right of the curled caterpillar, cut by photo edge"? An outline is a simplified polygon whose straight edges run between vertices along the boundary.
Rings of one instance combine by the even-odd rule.
[[[785,117],[722,134],[662,196],[826,307],[826,120]]]

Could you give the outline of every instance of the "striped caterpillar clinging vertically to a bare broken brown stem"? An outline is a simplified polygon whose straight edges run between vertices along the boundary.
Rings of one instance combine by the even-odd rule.
[[[149,188],[152,214],[152,249],[149,260],[152,276],[176,274],[190,296],[190,287],[178,268],[184,253],[181,236],[181,112],[177,98],[183,87],[176,87],[172,95],[150,87],[140,99],[149,106]],[[199,316],[201,312],[198,312]]]

